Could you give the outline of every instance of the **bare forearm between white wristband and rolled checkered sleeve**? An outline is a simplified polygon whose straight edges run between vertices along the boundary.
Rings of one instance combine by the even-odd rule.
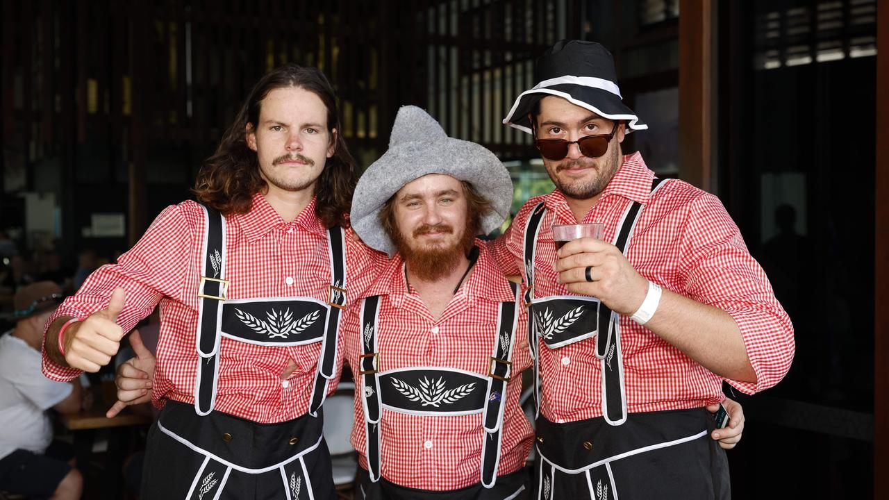
[[[757,382],[741,330],[725,310],[665,288],[645,327],[717,375]]]

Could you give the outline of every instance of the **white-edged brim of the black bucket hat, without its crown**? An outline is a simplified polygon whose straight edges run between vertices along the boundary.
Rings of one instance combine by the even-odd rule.
[[[509,109],[507,117],[503,118],[503,124],[525,133],[532,133],[531,120],[528,119],[528,115],[534,105],[547,95],[561,97],[575,106],[589,109],[598,116],[609,120],[624,120],[627,122],[626,133],[648,128],[648,125],[639,120],[636,113],[629,109],[617,95],[604,89],[575,84],[552,85],[521,93],[513,103],[512,109]]]

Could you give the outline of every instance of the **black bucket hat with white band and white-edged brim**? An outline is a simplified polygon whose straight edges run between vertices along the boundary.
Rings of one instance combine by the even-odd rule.
[[[600,117],[625,120],[626,133],[648,125],[622,101],[611,52],[596,42],[560,40],[537,60],[537,85],[521,93],[503,123],[531,133],[528,113],[547,95],[557,95]]]

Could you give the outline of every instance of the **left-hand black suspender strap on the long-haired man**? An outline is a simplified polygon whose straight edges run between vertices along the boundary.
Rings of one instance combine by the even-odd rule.
[[[216,381],[219,375],[221,303],[226,300],[228,280],[225,279],[225,217],[208,206],[204,209],[203,274],[197,289],[197,374],[195,378],[195,411],[198,415],[212,412],[216,404]]]

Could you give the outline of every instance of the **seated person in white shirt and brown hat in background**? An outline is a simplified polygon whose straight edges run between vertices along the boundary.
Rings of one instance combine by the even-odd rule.
[[[78,379],[54,382],[40,371],[44,323],[60,301],[52,281],[22,287],[13,299],[15,327],[0,337],[0,490],[28,498],[75,499],[83,490],[74,453],[52,441],[46,414],[80,411],[83,391]]]

